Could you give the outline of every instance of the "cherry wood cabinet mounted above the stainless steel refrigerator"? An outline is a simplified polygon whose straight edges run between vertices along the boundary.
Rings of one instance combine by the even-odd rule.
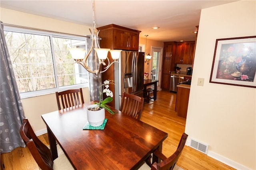
[[[100,30],[99,37],[102,38],[100,47],[130,51],[139,50],[141,31],[115,24],[98,27],[97,29]]]

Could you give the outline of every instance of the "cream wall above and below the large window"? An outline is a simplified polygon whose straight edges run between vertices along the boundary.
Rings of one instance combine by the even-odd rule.
[[[70,33],[75,35],[90,35],[88,26],[70,23],[52,18],[36,16],[24,12],[1,8],[1,21],[3,23]],[[84,102],[90,101],[88,88],[83,88]],[[46,125],[41,115],[58,110],[55,94],[46,94],[32,98],[22,99],[25,117],[29,119],[32,128],[37,135],[46,133]]]

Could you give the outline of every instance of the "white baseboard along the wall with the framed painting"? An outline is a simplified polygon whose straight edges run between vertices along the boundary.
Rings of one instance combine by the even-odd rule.
[[[190,141],[186,141],[186,146],[189,146]],[[190,147],[190,146],[189,146]],[[191,147],[192,148],[192,147]],[[199,151],[198,151],[199,152]],[[232,168],[235,168],[237,170],[250,170],[250,168],[247,168],[246,166],[239,164],[237,162],[234,162],[233,160],[230,160],[220,154],[217,154],[215,152],[212,152],[210,150],[208,150],[207,155],[210,156],[211,158],[214,158],[228,166],[231,166]]]

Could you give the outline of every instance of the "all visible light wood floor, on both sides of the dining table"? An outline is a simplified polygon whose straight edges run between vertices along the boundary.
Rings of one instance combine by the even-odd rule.
[[[163,154],[167,157],[175,152],[186,124],[186,119],[178,117],[174,111],[175,102],[175,93],[159,91],[156,101],[150,101],[149,104],[144,103],[141,117],[141,121],[168,133],[168,138],[165,139],[162,149]],[[47,134],[40,135],[39,139],[48,145]],[[18,147],[12,152],[1,154],[2,163],[5,166],[4,170],[39,170],[27,147]],[[184,147],[177,164],[184,170],[234,170],[234,168],[188,146]]]

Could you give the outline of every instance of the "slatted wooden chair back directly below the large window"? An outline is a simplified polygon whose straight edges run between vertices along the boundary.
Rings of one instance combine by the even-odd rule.
[[[56,92],[58,109],[84,104],[82,88]]]

